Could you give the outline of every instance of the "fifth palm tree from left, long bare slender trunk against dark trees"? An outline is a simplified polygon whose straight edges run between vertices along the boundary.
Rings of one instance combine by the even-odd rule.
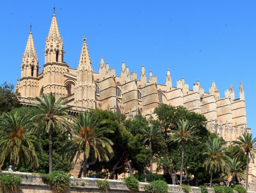
[[[192,142],[192,143],[200,143],[198,140],[201,137],[194,136],[199,130],[195,128],[195,125],[192,127],[190,126],[190,122],[188,120],[180,120],[180,124],[178,127],[172,124],[173,130],[172,135],[167,140],[167,142],[178,142],[181,143],[181,163],[180,163],[180,185],[182,184],[182,173],[183,173],[183,157],[184,157],[184,146],[185,142]]]

